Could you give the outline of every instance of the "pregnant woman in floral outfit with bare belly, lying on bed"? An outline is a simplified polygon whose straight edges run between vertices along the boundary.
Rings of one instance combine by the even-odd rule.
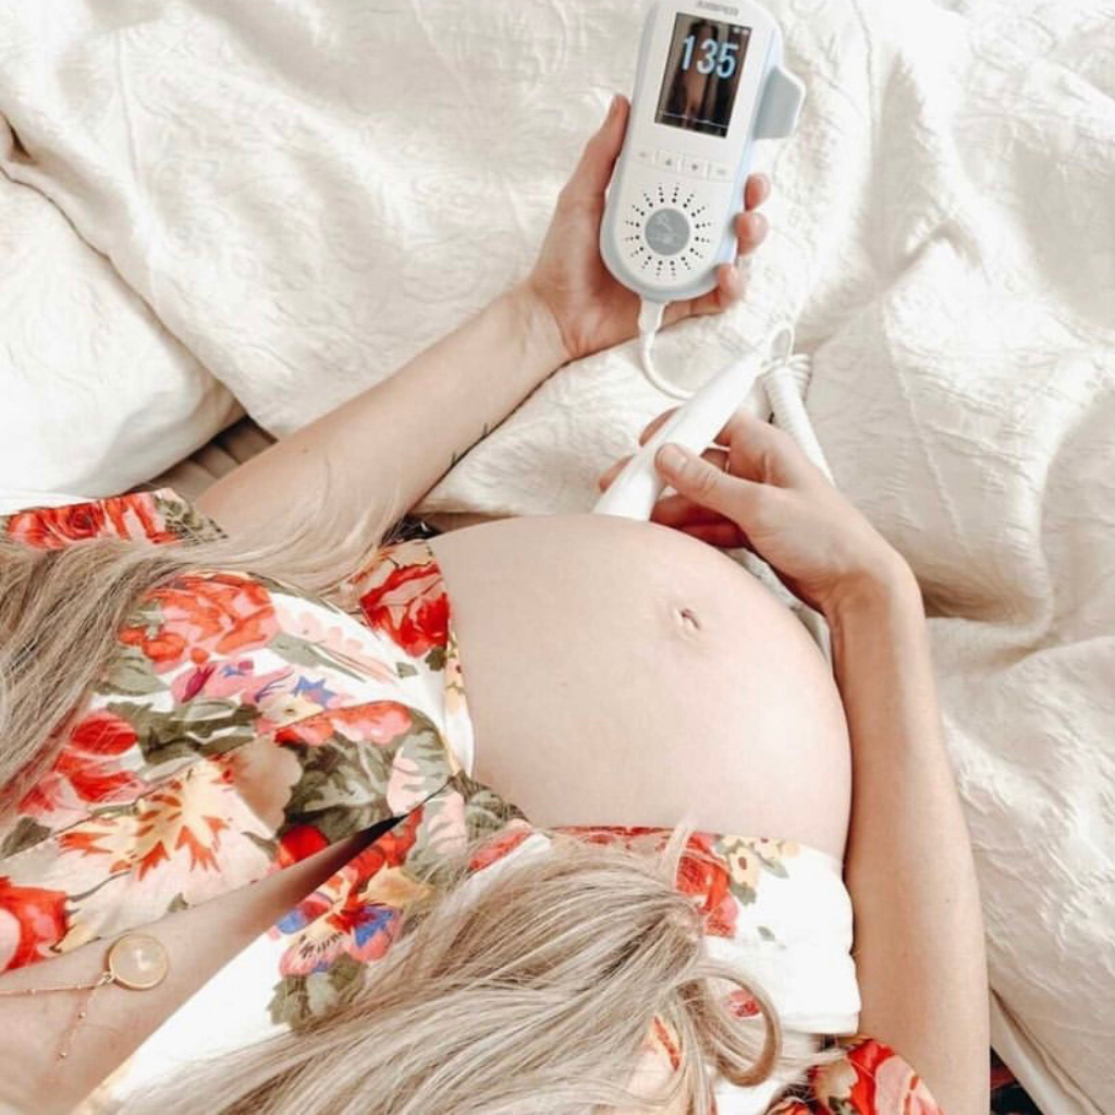
[[[628,112],[531,273],[390,379],[193,506],[0,520],[3,1109],[986,1113],[918,586],[780,432],[661,452],[652,523],[380,544],[633,336],[597,254]]]

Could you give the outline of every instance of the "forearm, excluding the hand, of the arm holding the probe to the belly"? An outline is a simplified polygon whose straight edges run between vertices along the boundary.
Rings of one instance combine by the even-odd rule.
[[[986,1115],[983,922],[921,594],[895,564],[828,619],[852,740],[861,1030],[904,1056],[948,1115]]]

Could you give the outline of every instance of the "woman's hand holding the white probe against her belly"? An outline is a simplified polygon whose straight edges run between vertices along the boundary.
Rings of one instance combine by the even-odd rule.
[[[670,414],[642,432],[640,445]],[[627,459],[600,478],[601,488]],[[655,466],[673,493],[658,501],[652,522],[715,546],[754,551],[791,592],[830,619],[864,589],[913,580],[899,552],[793,438],[749,410],[738,410],[702,456],[667,443]]]

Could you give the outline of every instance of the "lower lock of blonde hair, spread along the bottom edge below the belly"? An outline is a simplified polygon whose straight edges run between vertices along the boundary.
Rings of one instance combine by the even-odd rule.
[[[746,973],[708,954],[704,915],[675,885],[687,827],[657,855],[545,835],[543,854],[513,853],[478,875],[468,864],[489,834],[443,860],[434,896],[406,912],[390,952],[337,1009],[192,1064],[117,1111],[705,1115],[714,1073],[755,1085],[838,1055],[784,1035]],[[757,1016],[730,1008],[734,989]],[[632,1076],[656,1020],[677,1066],[641,1094]]]

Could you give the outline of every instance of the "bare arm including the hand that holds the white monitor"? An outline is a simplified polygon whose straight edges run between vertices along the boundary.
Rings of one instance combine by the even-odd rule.
[[[562,188],[530,274],[389,379],[350,399],[214,484],[197,501],[230,533],[265,526],[289,493],[319,485],[323,466],[353,515],[394,522],[555,368],[633,337],[639,300],[600,259],[604,194],[630,105],[617,97]],[[762,205],[764,175],[740,202]],[[738,213],[739,254],[766,234],[760,213]],[[716,289],[673,302],[666,322],[718,313],[743,294],[738,268],[721,264]]]

